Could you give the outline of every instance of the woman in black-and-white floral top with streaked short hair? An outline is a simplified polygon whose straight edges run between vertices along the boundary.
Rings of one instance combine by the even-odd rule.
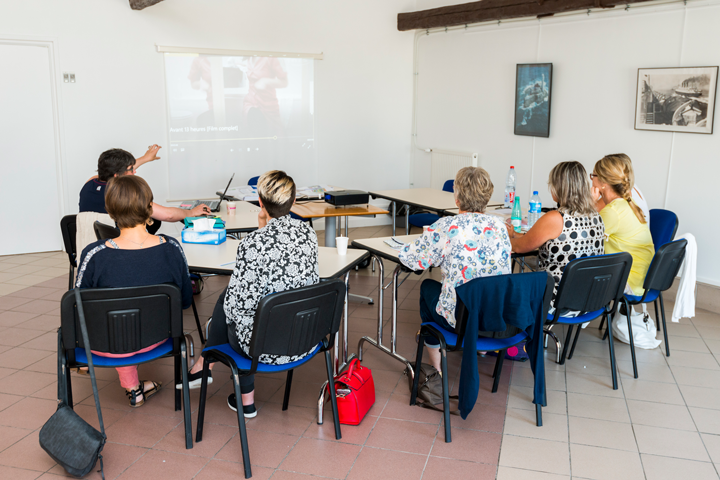
[[[290,218],[296,191],[293,179],[285,172],[273,170],[258,179],[257,188],[261,207],[258,229],[238,246],[235,269],[215,305],[206,344],[210,347],[230,343],[245,356],[250,352],[255,310],[260,300],[271,293],[320,281],[317,235],[307,223]],[[259,361],[282,365],[309,353],[294,357],[261,355]],[[200,388],[202,368],[201,357],[190,370],[191,388]],[[211,382],[212,376],[208,378],[208,383]],[[254,375],[240,378],[240,392],[245,417],[256,416]],[[228,406],[237,411],[234,393],[228,397]]]

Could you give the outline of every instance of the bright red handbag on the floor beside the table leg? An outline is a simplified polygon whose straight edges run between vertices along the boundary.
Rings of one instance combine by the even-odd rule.
[[[348,369],[335,377],[338,416],[343,425],[359,425],[375,403],[375,382],[369,368],[355,358]]]

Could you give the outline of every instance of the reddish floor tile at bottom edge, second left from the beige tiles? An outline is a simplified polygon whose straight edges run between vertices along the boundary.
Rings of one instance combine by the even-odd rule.
[[[423,476],[427,456],[365,447],[348,480],[414,480]],[[443,478],[443,477],[427,477]],[[446,477],[447,478],[447,477]]]

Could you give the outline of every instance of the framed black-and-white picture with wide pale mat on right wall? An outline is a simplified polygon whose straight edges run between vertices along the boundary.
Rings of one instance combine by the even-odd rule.
[[[712,133],[718,67],[639,68],[635,130]]]

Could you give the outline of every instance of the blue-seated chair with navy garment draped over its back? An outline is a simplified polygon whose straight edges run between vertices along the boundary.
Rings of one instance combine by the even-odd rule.
[[[525,274],[525,276],[521,277],[522,279],[531,279],[531,275],[544,275],[546,277],[546,285],[543,295],[543,316],[547,313],[549,307],[550,307],[550,300],[552,299],[552,293],[553,293],[553,287],[555,286],[555,282],[552,278],[552,276],[546,272],[538,272],[538,273],[529,273]],[[512,280],[518,279],[515,275],[500,275],[500,276],[491,276],[491,277],[480,277],[472,280],[471,282],[487,282],[487,281],[498,281],[498,279],[501,279],[501,281],[505,282],[505,288],[509,289],[512,288]],[[470,282],[468,282],[470,283]],[[506,290],[507,291],[507,290]],[[513,318],[515,318],[515,315],[517,313],[525,308],[527,308],[527,305],[520,304],[519,302],[513,305],[516,307],[515,310],[506,310],[504,311],[507,316],[503,316],[503,320],[505,320],[507,325],[513,325]],[[443,386],[443,415],[444,415],[444,423],[445,423],[445,442],[450,443],[452,442],[452,433],[450,429],[450,399],[449,399],[449,386],[448,386],[448,370],[447,370],[447,355],[445,352],[459,352],[462,351],[463,345],[466,341],[465,339],[465,329],[468,322],[468,314],[469,311],[465,307],[465,305],[462,303],[462,301],[458,298],[458,303],[455,308],[455,330],[450,331],[442,328],[440,325],[438,325],[435,322],[426,322],[420,325],[420,337],[418,340],[418,349],[417,354],[415,357],[415,368],[414,368],[414,380],[413,380],[413,388],[410,392],[410,405],[415,405],[416,399],[417,399],[417,391],[418,391],[418,382],[419,382],[419,371],[420,366],[422,364],[422,355],[423,355],[423,347],[425,346],[425,337],[431,336],[436,338],[440,342],[440,350],[441,350],[441,360],[440,360],[440,366],[442,370],[442,386]],[[480,325],[480,330],[486,330],[486,328],[483,325]],[[498,385],[500,384],[500,373],[502,372],[502,364],[503,360],[505,358],[505,352],[508,348],[513,347],[525,340],[527,340],[528,336],[524,331],[521,331],[520,333],[509,337],[509,338],[488,338],[488,337],[478,337],[476,340],[477,350],[478,351],[498,351],[497,359],[495,360],[495,371],[493,373],[493,377],[495,380],[493,381],[493,387],[492,387],[492,393],[496,393],[498,389]],[[542,342],[542,338],[538,339],[538,342]],[[540,347],[542,348],[542,347]],[[535,409],[535,415],[536,415],[536,422],[537,426],[542,426],[542,410],[540,405],[536,405]]]

